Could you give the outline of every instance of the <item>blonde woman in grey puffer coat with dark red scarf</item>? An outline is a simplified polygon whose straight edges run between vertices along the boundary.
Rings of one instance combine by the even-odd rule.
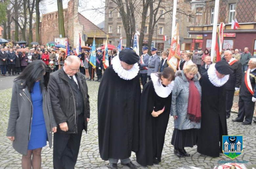
[[[184,147],[196,145],[197,129],[201,127],[201,86],[197,65],[188,64],[176,72],[172,91],[171,115],[174,117],[174,131],[171,144],[178,157],[189,157]]]

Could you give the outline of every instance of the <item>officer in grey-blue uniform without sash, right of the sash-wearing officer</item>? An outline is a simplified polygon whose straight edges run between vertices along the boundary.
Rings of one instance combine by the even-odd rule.
[[[157,55],[157,48],[151,47],[151,56],[148,60],[148,79],[150,80],[150,74],[158,72],[160,66],[160,57]]]

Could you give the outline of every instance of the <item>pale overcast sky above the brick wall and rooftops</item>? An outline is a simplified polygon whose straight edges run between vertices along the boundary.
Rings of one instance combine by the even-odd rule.
[[[63,0],[63,8],[68,7],[69,0]],[[90,10],[94,8],[102,8],[105,6],[104,0],[79,0],[82,4],[79,4],[81,7],[78,8],[78,12],[80,12],[84,17],[89,19],[95,25],[104,21],[104,14],[100,13],[100,11]],[[42,10],[43,13],[49,13],[53,11],[57,11],[57,1],[55,0],[44,0],[45,10]],[[104,8],[101,9],[101,12],[104,12]]]

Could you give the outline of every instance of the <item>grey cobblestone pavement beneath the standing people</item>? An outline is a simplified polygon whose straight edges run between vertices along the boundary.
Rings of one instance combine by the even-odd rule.
[[[88,134],[85,132],[82,135],[80,151],[76,163],[76,168],[107,168],[108,161],[101,160],[98,151],[97,140],[97,92],[99,83],[87,82],[90,94],[91,106],[91,119],[88,124]],[[18,154],[11,146],[11,142],[6,138],[6,130],[9,119],[11,101],[11,89],[0,91],[0,169],[21,168],[21,155]],[[235,160],[249,161],[245,165],[256,164],[256,124],[243,126],[240,123],[233,123],[236,114],[231,113],[231,118],[227,119],[228,134],[229,135],[243,135],[244,136],[244,150],[242,155]],[[171,145],[171,137],[173,133],[173,118],[170,118],[168,128],[165,136],[165,144],[162,152],[162,162],[159,165],[149,166],[150,169],[160,168],[178,168],[187,166],[196,166],[200,168],[213,168],[214,166],[221,165],[218,163],[220,160],[230,160],[223,154],[219,158],[212,158],[197,153],[196,146],[193,148],[186,148],[191,157],[178,158],[173,154],[173,146]],[[207,143],[205,143],[207,144]],[[210,146],[210,145],[209,145]],[[135,160],[135,153],[132,153],[131,160],[138,164]],[[42,151],[42,168],[53,168],[53,149],[49,146],[43,148]],[[118,168],[124,167],[118,163]],[[139,168],[147,168],[140,166]]]

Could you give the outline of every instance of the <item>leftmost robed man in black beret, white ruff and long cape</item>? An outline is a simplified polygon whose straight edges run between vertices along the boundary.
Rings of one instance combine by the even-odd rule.
[[[129,157],[139,149],[139,56],[122,50],[104,72],[98,91],[98,141],[109,168],[122,165],[137,168]]]

